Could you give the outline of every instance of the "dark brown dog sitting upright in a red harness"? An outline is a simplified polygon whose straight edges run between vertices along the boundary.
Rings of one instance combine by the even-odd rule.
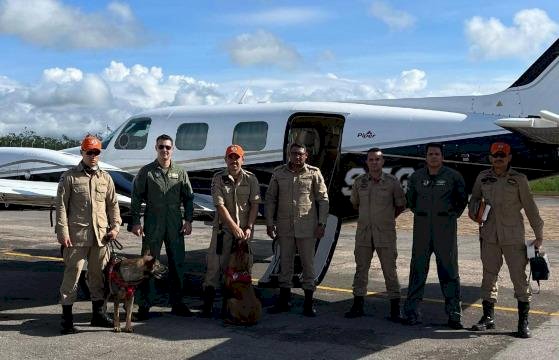
[[[252,287],[251,259],[248,244],[242,242],[235,247],[225,271],[224,321],[235,325],[253,325],[260,320],[262,304]]]

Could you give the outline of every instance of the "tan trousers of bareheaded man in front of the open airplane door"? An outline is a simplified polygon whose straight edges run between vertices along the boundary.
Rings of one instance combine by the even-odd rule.
[[[293,236],[279,236],[280,266],[279,286],[283,288],[293,287],[293,269],[295,251],[299,250],[299,257],[303,267],[303,279],[301,288],[304,290],[316,289],[314,281],[314,247],[315,238],[300,238]]]

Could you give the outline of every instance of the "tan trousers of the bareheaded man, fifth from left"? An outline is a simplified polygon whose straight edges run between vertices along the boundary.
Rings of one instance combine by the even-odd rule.
[[[380,266],[384,275],[384,283],[389,299],[400,298],[400,282],[398,281],[398,272],[396,269],[396,259],[398,251],[395,247],[374,247],[361,246],[355,244],[355,276],[353,277],[353,295],[366,296],[367,284],[369,282],[369,268],[373,253],[377,252],[380,260]]]

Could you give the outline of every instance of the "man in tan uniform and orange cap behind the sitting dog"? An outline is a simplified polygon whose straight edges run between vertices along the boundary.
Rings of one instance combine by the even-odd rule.
[[[227,168],[212,179],[212,197],[217,216],[207,255],[202,317],[212,315],[215,289],[222,283],[234,242],[252,239],[260,204],[260,186],[256,176],[242,168],[245,152],[239,145],[225,151]]]

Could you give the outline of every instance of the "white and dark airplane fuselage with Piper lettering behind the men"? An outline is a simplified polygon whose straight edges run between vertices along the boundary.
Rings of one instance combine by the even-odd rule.
[[[353,179],[365,172],[365,152],[371,147],[383,149],[385,171],[404,186],[423,165],[428,142],[444,145],[445,164],[463,174],[469,189],[489,166],[489,145],[499,140],[511,143],[513,166],[529,178],[557,172],[556,145],[531,142],[505,130],[495,125],[499,118],[336,102],[169,107],[126,121],[104,142],[103,161],[135,173],[154,160],[156,137],[168,134],[175,139],[173,159],[187,169],[194,190],[209,193],[213,173],[225,166],[225,147],[240,143],[247,149],[246,168],[264,190],[272,169],[286,161],[286,144],[302,142],[308,162],[325,173],[336,209],[353,215],[349,193]]]

